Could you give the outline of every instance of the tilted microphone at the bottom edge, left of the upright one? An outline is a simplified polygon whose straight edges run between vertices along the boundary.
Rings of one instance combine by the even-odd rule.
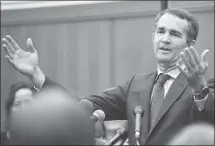
[[[117,130],[116,134],[106,143],[106,145],[113,145],[113,143],[116,142],[119,138],[121,138],[122,136],[124,137],[127,134],[127,129],[120,127]]]

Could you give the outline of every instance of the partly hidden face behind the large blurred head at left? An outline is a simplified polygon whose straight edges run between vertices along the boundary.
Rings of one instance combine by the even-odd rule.
[[[32,99],[32,91],[28,88],[22,88],[16,91],[12,111],[17,111],[25,106]]]

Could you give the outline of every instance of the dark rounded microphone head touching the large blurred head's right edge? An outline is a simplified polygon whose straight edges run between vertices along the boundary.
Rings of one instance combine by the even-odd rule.
[[[88,99],[81,99],[79,105],[84,108],[86,114],[90,117],[93,113],[93,104]]]

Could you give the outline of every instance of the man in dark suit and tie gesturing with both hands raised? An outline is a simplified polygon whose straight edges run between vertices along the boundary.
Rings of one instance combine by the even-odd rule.
[[[128,120],[130,144],[162,145],[188,124],[214,123],[214,96],[204,76],[209,50],[201,55],[195,50],[198,31],[198,22],[190,12],[184,9],[160,12],[152,37],[155,72],[136,74],[122,85],[87,98],[94,110],[105,112],[106,120]],[[27,75],[37,88],[50,85],[51,80],[39,68],[37,51],[30,38],[27,46],[31,51],[25,56],[11,36],[7,35],[2,42],[9,63]],[[138,141],[133,113],[137,106],[144,111]]]

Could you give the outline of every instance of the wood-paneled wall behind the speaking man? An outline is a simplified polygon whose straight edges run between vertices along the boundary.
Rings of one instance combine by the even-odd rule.
[[[179,4],[188,7],[183,2],[175,5]],[[214,74],[212,7],[197,2],[191,9],[200,23],[196,47],[211,51],[207,76]],[[2,11],[1,39],[10,34],[26,49],[31,37],[45,75],[84,97],[124,83],[135,73],[154,71],[152,28],[159,11],[159,1]],[[12,83],[29,82],[4,56],[1,50],[2,105]]]

